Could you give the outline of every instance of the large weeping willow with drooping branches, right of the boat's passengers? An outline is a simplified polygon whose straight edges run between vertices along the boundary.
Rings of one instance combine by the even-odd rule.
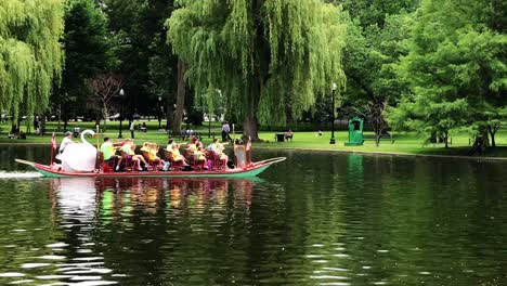
[[[187,64],[186,78],[212,109],[226,110],[258,139],[258,123],[284,125],[317,96],[344,88],[340,8],[320,0],[181,0],[168,41]]]

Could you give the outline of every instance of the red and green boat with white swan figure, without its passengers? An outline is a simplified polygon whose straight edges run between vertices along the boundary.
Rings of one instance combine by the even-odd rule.
[[[81,133],[82,144],[70,144],[73,146],[72,156],[65,156],[67,150],[63,153],[63,164],[53,164],[53,144],[51,148],[51,164],[43,165],[34,161],[28,161],[24,159],[15,159],[15,161],[24,165],[28,165],[39,171],[43,177],[48,178],[82,178],[82,177],[95,177],[95,178],[251,178],[256,177],[259,173],[263,172],[271,165],[281,162],[286,159],[286,157],[276,157],[270,158],[261,161],[244,164],[243,168],[234,169],[222,169],[222,170],[192,170],[192,171],[182,171],[182,170],[171,170],[171,171],[161,171],[161,170],[152,170],[152,171],[126,171],[126,172],[105,172],[101,168],[95,168],[96,159],[96,148],[87,142],[84,134],[94,135],[93,130],[84,130]],[[68,147],[67,146],[67,147]],[[67,148],[66,147],[66,148]],[[76,153],[77,152],[77,153]],[[92,156],[90,154],[94,153]],[[87,157],[76,154],[89,154]],[[80,157],[81,156],[81,157]],[[245,152],[243,152],[243,156]],[[64,161],[65,158],[68,158],[68,161]],[[246,161],[246,158],[244,158]],[[63,168],[63,166],[70,166]],[[72,167],[79,167],[78,170],[73,170]]]

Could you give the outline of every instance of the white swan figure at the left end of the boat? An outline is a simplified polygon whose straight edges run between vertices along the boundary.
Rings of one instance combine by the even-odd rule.
[[[68,144],[62,155],[62,168],[65,172],[92,172],[95,170],[96,147],[88,143],[84,134],[94,135],[93,130],[81,132],[82,143]]]

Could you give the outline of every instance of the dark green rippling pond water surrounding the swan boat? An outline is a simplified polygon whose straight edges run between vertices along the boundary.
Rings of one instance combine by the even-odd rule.
[[[318,152],[255,180],[43,179],[3,146],[0,285],[502,285],[507,164]]]

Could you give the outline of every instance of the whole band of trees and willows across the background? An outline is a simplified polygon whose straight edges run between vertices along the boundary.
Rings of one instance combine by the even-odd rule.
[[[53,107],[87,113],[84,82],[115,75],[128,115],[167,116],[177,132],[185,114],[223,115],[256,138],[259,123],[325,122],[338,112],[378,133],[446,142],[467,131],[494,146],[507,121],[506,1],[65,3],[0,2],[2,113],[42,114],[52,90]],[[109,94],[101,109],[119,104]]]

